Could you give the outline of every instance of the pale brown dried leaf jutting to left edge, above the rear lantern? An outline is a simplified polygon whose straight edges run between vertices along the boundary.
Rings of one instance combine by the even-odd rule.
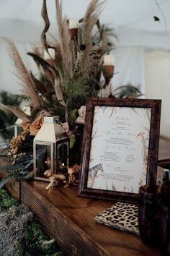
[[[0,104],[0,109],[4,111],[6,114],[12,112],[15,116],[22,119],[23,121],[30,121],[30,116],[25,114],[24,111],[22,111],[21,108],[19,108],[19,106]]]

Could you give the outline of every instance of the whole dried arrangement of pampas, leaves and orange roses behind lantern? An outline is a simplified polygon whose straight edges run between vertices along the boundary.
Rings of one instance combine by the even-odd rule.
[[[13,168],[9,169],[13,170],[11,174],[14,174],[17,179],[32,176],[30,175],[32,147],[28,147],[29,150],[27,150],[30,154],[29,163],[24,155],[20,160],[21,156],[18,154],[23,153],[23,145],[26,144],[27,137],[36,135],[42,126],[43,116],[60,116],[60,123],[70,137],[70,145],[73,148],[73,155],[70,153],[69,161],[73,163],[71,162],[73,156],[76,163],[79,163],[86,98],[112,96],[109,81],[114,70],[112,68],[110,74],[110,69],[103,67],[104,55],[112,50],[112,43],[109,41],[107,27],[100,25],[99,22],[102,4],[99,0],[92,0],[86,9],[84,18],[75,24],[75,21],[68,20],[66,16],[63,17],[62,1],[56,0],[58,38],[51,36],[50,40],[47,40],[46,33],[50,27],[50,21],[46,0],[43,0],[42,18],[45,21],[45,27],[41,40],[45,54],[49,57],[45,59],[40,48],[35,48],[33,53],[27,53],[32,56],[39,67],[40,79],[37,79],[24,66],[12,40],[4,38],[9,49],[9,56],[14,61],[21,81],[23,94],[20,98],[28,100],[32,107],[32,114],[28,116],[17,106],[4,106],[3,104],[0,106],[3,111],[12,111],[23,120],[23,132],[18,137],[12,138],[8,154],[14,160]],[[136,92],[140,93],[137,90]],[[28,142],[30,143],[30,140]],[[75,157],[75,152],[77,157]]]

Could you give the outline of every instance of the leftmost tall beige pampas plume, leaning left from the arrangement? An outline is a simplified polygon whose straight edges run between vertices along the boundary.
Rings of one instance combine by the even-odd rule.
[[[19,52],[17,51],[16,46],[9,38],[4,38],[4,42],[7,44],[9,48],[9,56],[14,61],[14,65],[18,72],[18,77],[22,81],[22,87],[24,93],[30,98],[32,101],[32,105],[37,108],[42,106],[42,101],[39,96],[35,92],[34,85],[32,79],[30,77],[30,73],[27,68],[24,66],[24,63],[19,56]]]

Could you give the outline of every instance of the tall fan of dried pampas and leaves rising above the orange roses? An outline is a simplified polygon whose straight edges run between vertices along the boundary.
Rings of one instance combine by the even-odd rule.
[[[55,59],[49,56],[50,60],[44,60],[37,48],[34,53],[28,53],[40,69],[41,79],[27,71],[12,40],[4,38],[22,82],[23,92],[31,100],[35,117],[43,109],[46,114],[59,115],[61,121],[67,121],[69,127],[74,129],[73,122],[86,97],[99,95],[102,88],[102,59],[111,50],[107,29],[99,23],[102,4],[99,0],[90,2],[72,38],[68,18],[63,16],[62,1],[55,0],[58,38],[51,36],[49,41],[47,33],[50,20],[46,0],[43,0],[41,14],[45,26],[41,34],[42,47],[47,52],[53,48]],[[25,119],[26,116],[21,118]],[[34,120],[32,116],[31,120]]]

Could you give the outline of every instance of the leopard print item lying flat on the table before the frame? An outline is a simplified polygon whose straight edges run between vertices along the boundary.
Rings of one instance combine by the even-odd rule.
[[[139,235],[137,205],[117,202],[111,208],[99,213],[94,219],[98,223]]]

